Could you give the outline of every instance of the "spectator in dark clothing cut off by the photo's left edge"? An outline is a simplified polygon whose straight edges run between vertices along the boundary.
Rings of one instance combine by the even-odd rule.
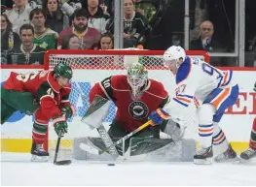
[[[20,47],[18,33],[6,15],[1,15],[1,64],[7,64],[7,54],[14,47]]]

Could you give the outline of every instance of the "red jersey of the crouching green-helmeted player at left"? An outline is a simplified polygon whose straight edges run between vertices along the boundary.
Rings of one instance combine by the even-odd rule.
[[[53,71],[17,74],[12,72],[3,84],[5,89],[30,92],[39,99],[43,113],[49,118],[60,116],[60,106],[70,106],[68,96],[71,84],[60,87],[54,78]]]

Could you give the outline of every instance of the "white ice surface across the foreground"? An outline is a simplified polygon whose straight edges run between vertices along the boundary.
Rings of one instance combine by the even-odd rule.
[[[256,165],[238,163],[31,163],[29,154],[1,154],[1,185],[256,185]]]

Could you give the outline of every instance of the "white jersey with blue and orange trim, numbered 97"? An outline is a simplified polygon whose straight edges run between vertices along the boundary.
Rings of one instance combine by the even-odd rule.
[[[195,100],[202,103],[213,90],[236,85],[233,77],[233,71],[221,71],[199,58],[186,56],[176,74],[176,96],[165,109],[170,115],[180,115]]]

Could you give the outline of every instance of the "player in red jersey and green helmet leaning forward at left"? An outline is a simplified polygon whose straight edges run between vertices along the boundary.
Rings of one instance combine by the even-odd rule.
[[[59,63],[54,71],[17,74],[12,72],[1,87],[1,124],[17,110],[35,115],[32,131],[32,160],[45,159],[49,153],[43,149],[48,123],[53,119],[58,136],[67,133],[66,119],[74,113],[68,101],[71,91],[69,80],[72,70]]]

